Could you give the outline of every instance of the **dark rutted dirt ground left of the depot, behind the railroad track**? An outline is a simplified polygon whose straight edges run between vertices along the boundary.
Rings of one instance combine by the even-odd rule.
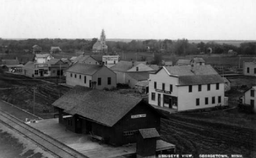
[[[33,113],[33,87],[35,90],[35,114],[40,118],[53,118],[51,104],[70,88],[10,73],[0,74],[1,99]]]

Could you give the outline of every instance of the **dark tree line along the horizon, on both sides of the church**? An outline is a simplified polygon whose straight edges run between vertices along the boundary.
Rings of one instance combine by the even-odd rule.
[[[85,39],[25,39],[25,40],[7,40],[0,38],[0,52],[31,50],[33,45],[39,45],[44,52],[48,52],[51,46],[60,46],[62,51],[74,52],[76,50],[91,51],[92,46],[97,42],[97,38],[92,40]],[[216,42],[200,42],[189,43],[188,39],[177,40],[131,40],[129,43],[107,41],[108,52],[162,52],[175,55],[191,55],[208,53],[208,48],[211,48],[213,54],[227,53],[229,50],[242,55],[255,55],[256,43],[247,42],[241,43],[240,46],[231,44],[219,44]]]

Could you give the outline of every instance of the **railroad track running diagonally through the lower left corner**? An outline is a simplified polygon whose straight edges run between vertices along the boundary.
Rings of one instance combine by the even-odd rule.
[[[3,110],[0,110],[0,122],[18,132],[22,136],[30,139],[37,147],[47,151],[54,157],[61,158],[88,158],[87,156],[79,153],[78,151],[68,147],[67,145],[57,141],[54,138],[40,132],[39,130],[25,124],[21,120],[11,116]]]

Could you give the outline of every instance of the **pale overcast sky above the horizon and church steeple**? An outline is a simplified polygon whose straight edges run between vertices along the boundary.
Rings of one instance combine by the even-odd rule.
[[[255,40],[255,0],[0,0],[0,38]]]

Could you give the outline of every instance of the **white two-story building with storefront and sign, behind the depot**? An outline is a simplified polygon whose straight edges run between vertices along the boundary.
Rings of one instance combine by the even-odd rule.
[[[224,80],[210,65],[162,67],[149,73],[149,104],[177,111],[224,105]]]

